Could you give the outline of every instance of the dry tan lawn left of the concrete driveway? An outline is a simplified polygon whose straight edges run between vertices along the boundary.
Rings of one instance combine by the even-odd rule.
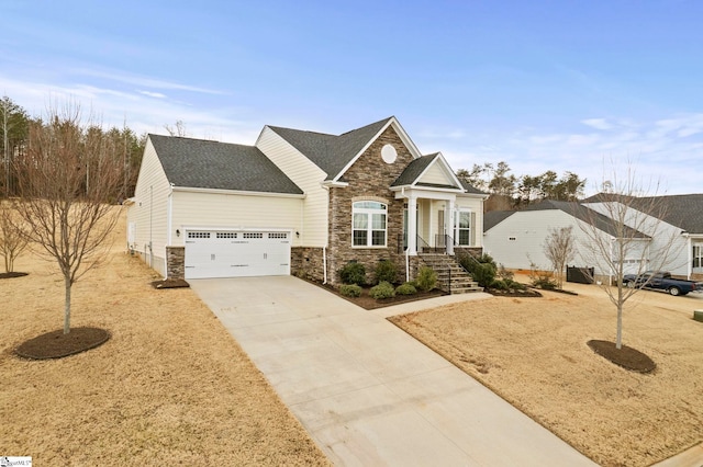
[[[301,424],[189,288],[124,253],[74,287],[72,326],[108,329],[91,351],[54,361],[12,354],[63,326],[63,280],[25,253],[0,281],[0,454],[36,465],[328,465]]]

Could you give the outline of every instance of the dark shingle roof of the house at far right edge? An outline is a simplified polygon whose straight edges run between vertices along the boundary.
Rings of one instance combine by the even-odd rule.
[[[689,234],[703,234],[703,194],[666,195],[666,196],[615,196],[599,193],[583,203],[603,203],[607,201],[625,201],[635,209],[644,212],[652,207],[660,210],[658,218],[679,227]]]

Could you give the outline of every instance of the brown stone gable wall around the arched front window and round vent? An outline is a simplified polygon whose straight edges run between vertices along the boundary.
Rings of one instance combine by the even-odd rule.
[[[381,159],[381,148],[387,144],[393,145],[398,152],[398,158],[390,164]],[[402,243],[405,201],[395,200],[390,185],[412,160],[412,155],[395,130],[389,127],[344,174],[349,185],[330,189],[327,281],[332,284],[339,282],[339,270],[349,261],[362,263],[369,280],[372,278],[376,264],[380,260],[393,261],[398,265],[399,274],[404,275],[404,253],[398,243]],[[384,248],[352,247],[352,204],[365,200],[388,205]]]

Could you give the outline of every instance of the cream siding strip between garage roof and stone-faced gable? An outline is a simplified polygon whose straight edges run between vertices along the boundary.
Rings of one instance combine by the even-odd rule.
[[[322,187],[326,174],[268,126],[256,141],[259,148],[305,193],[302,203],[300,246],[327,246],[328,192]]]

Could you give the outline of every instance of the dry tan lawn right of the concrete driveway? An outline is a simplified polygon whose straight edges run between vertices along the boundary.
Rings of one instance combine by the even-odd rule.
[[[703,440],[703,297],[640,292],[624,312],[637,374],[594,354],[615,339],[615,308],[595,285],[579,296],[489,298],[392,320],[537,422],[605,466],[645,466]]]

